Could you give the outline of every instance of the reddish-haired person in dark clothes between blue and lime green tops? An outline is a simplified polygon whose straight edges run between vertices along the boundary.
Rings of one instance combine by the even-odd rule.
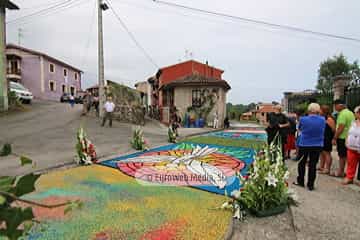
[[[320,166],[318,170],[321,174],[330,174],[332,164],[331,152],[333,149],[331,141],[334,138],[336,123],[328,105],[321,106],[320,114],[325,118],[326,126],[324,132],[324,148],[320,154]]]

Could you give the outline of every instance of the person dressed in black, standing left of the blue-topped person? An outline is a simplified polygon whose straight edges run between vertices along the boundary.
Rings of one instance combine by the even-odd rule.
[[[290,123],[288,118],[281,112],[280,105],[276,105],[274,109],[275,112],[269,115],[267,122],[268,126],[265,130],[268,135],[269,145],[275,140],[276,136],[280,136],[282,158],[283,161],[285,161],[285,144],[287,142],[288,128],[290,127]]]

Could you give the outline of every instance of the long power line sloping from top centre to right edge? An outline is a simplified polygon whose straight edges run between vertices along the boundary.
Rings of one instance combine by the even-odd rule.
[[[312,35],[317,35],[317,36],[322,36],[322,37],[336,38],[336,39],[342,39],[342,40],[353,41],[353,42],[360,42],[360,39],[353,38],[353,37],[346,37],[346,36],[341,36],[341,35],[336,35],[336,34],[317,32],[317,31],[307,30],[304,28],[293,27],[290,25],[276,24],[276,23],[271,23],[271,22],[266,22],[266,21],[251,19],[251,18],[244,18],[244,17],[234,16],[234,15],[230,15],[230,14],[189,7],[189,6],[185,6],[185,5],[181,5],[181,4],[165,2],[165,1],[161,1],[161,0],[152,0],[152,1],[155,3],[159,3],[159,4],[171,6],[171,7],[181,8],[181,9],[195,11],[195,12],[201,12],[201,13],[205,13],[205,14],[220,16],[220,17],[232,18],[232,19],[243,21],[243,22],[248,22],[248,23],[253,23],[253,24],[258,24],[258,25],[263,25],[263,26],[269,26],[269,27],[275,27],[275,28],[293,31],[293,32],[301,32],[301,33],[312,34]]]

